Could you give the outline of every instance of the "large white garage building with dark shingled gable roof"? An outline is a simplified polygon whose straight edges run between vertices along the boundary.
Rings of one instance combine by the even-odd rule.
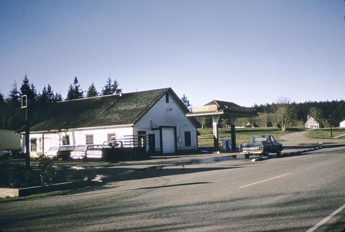
[[[128,136],[146,138],[151,154],[197,149],[198,122],[187,118],[187,112],[171,88],[58,102],[32,122],[30,157],[51,146],[102,144]],[[24,127],[18,132],[25,151]]]

